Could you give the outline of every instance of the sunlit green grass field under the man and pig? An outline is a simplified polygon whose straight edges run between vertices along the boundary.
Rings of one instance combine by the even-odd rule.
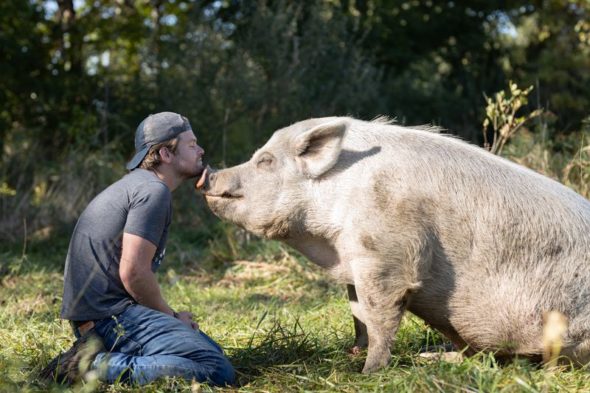
[[[225,230],[235,232],[231,227]],[[409,314],[397,334],[391,365],[363,375],[365,354],[347,352],[353,327],[344,288],[279,243],[237,244],[235,237],[227,239],[205,244],[173,233],[159,272],[171,305],[192,311],[201,329],[222,344],[234,363],[240,386],[219,390],[590,391],[590,373],[583,369],[546,371],[518,359],[498,365],[489,354],[460,363],[425,360],[420,348],[444,341]],[[143,387],[90,379],[66,388],[36,381],[36,373],[73,341],[69,326],[59,319],[67,241],[63,237],[30,243],[24,250],[15,245],[0,251],[0,391],[216,390],[179,379]],[[236,250],[241,255],[229,255]]]

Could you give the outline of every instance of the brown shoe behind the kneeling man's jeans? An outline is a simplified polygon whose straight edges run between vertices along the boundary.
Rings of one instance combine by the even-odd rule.
[[[71,385],[82,379],[96,355],[104,351],[100,337],[90,331],[77,339],[70,349],[49,362],[39,373],[39,378],[46,382]]]

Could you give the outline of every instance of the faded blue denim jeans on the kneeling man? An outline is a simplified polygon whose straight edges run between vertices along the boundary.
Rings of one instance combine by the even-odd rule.
[[[121,314],[95,322],[107,352],[92,369],[99,379],[143,385],[164,376],[231,385],[235,371],[221,347],[200,330],[147,307],[133,304]]]

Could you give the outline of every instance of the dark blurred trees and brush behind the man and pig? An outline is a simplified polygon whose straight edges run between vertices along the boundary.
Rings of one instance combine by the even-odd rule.
[[[0,60],[6,244],[69,235],[167,110],[212,166],[298,120],[385,115],[589,195],[588,0],[8,0]],[[192,185],[177,193],[173,225],[209,236]]]

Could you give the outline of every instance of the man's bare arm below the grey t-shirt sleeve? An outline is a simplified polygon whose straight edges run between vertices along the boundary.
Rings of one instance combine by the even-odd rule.
[[[166,303],[160,292],[160,285],[152,272],[152,259],[156,246],[140,236],[123,233],[123,246],[119,275],[123,286],[135,301],[142,306],[174,315],[174,310]],[[189,312],[178,313],[178,319],[196,328]]]

